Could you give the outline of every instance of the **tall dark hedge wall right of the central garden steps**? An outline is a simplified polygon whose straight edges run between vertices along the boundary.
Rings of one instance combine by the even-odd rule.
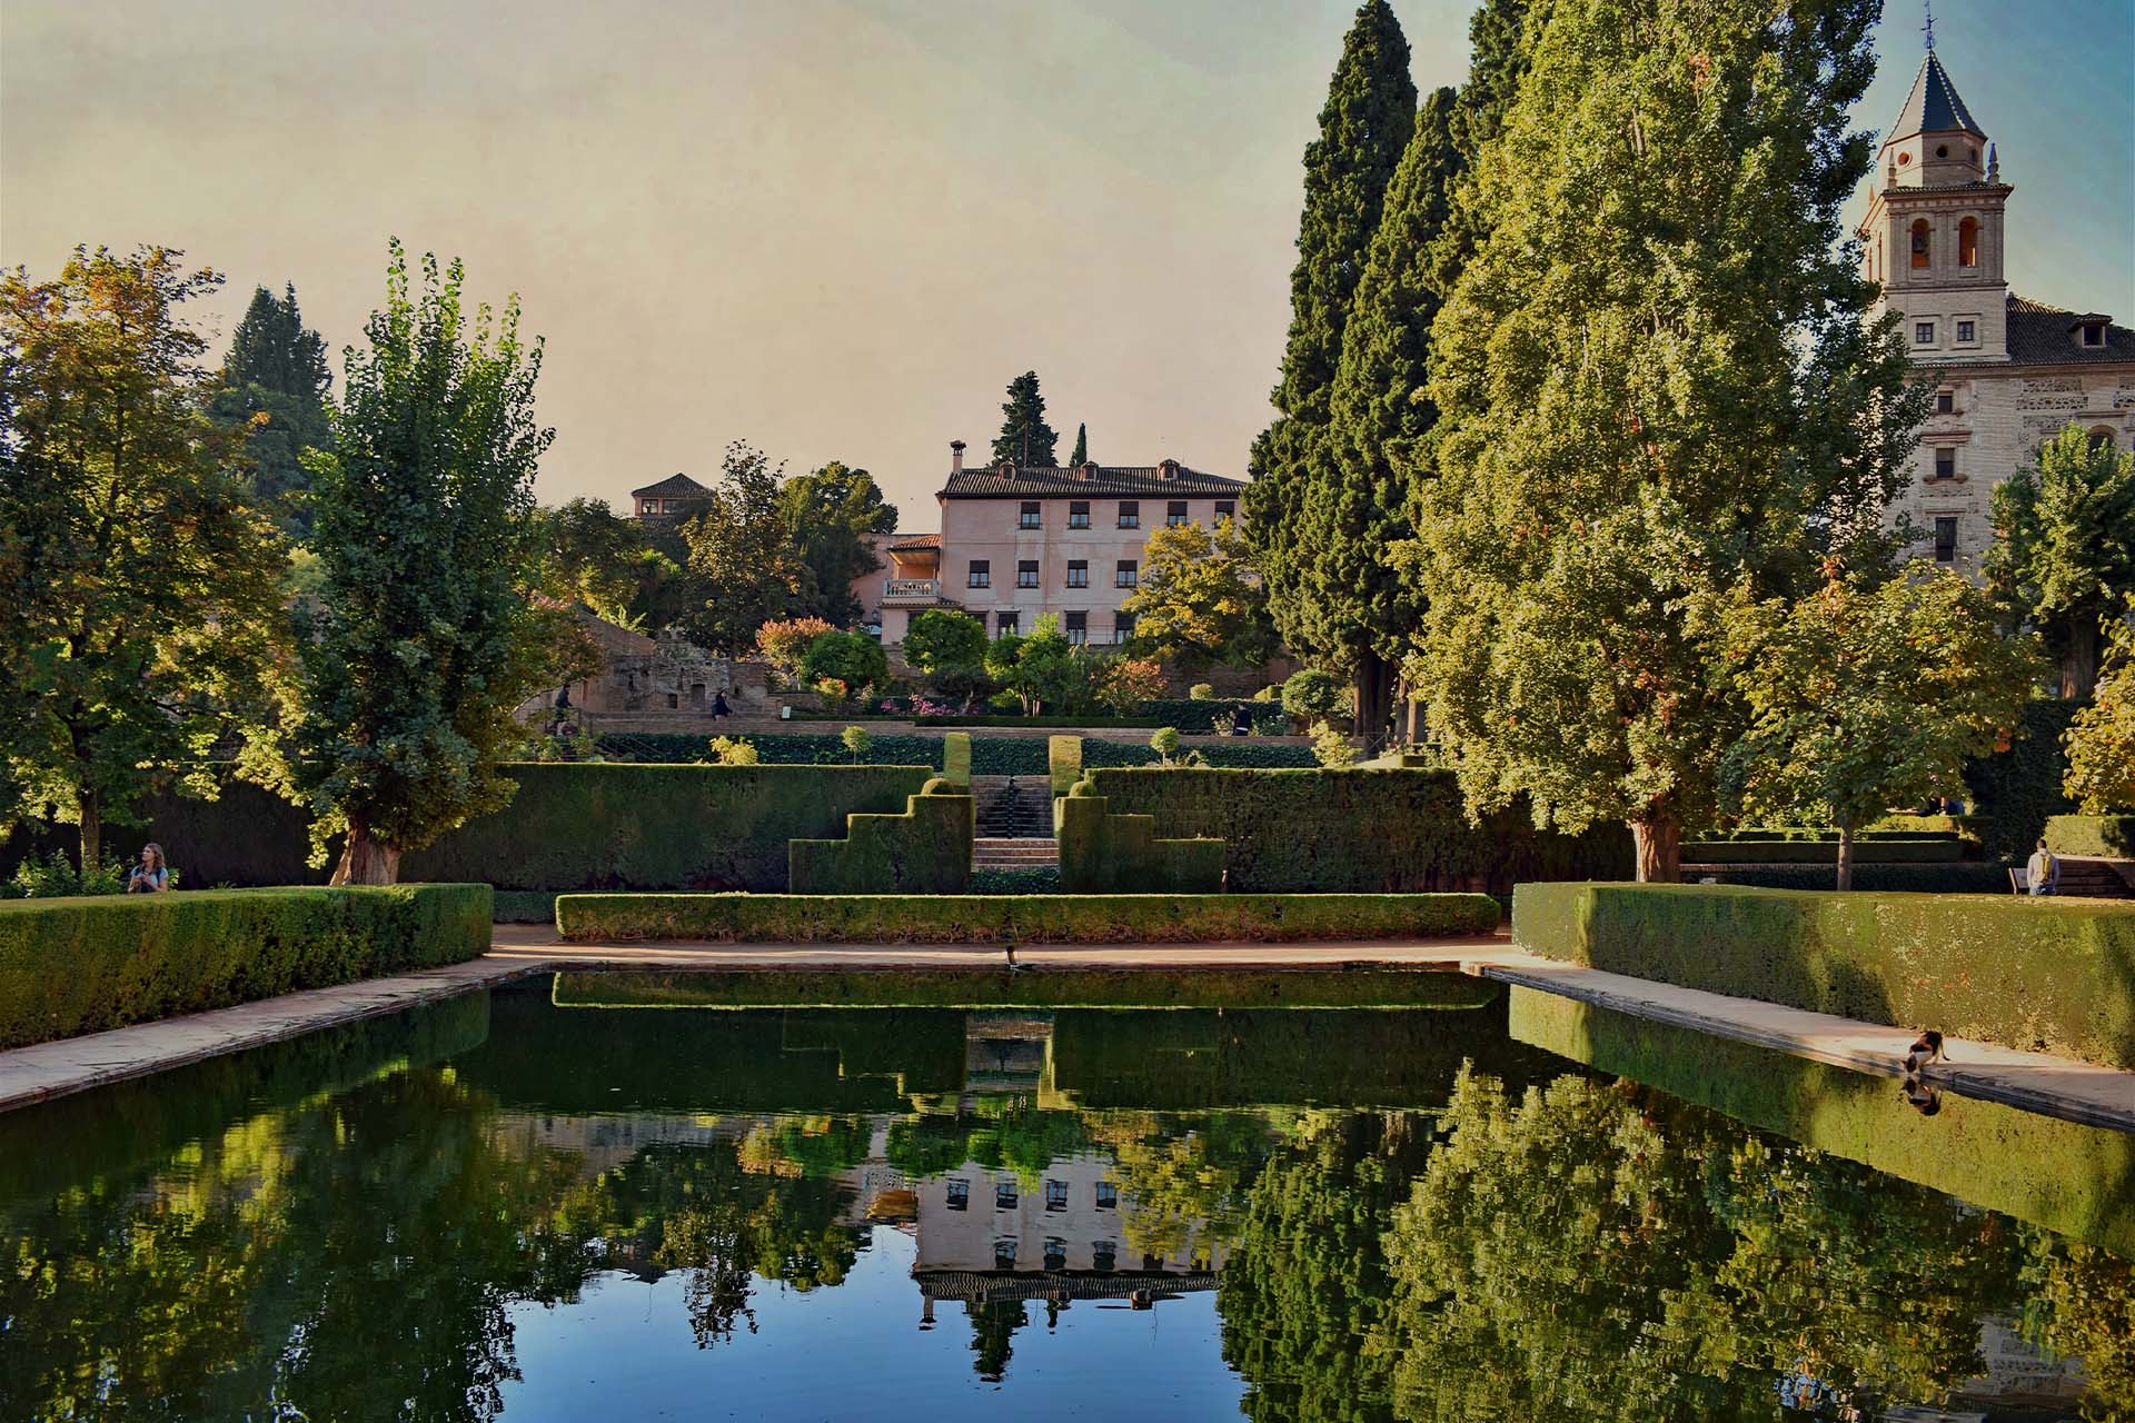
[[[1518,809],[1469,826],[1445,770],[1093,770],[1114,813],[1215,836],[1232,892],[1509,894],[1522,879],[1629,879],[1631,832],[1535,830]]]

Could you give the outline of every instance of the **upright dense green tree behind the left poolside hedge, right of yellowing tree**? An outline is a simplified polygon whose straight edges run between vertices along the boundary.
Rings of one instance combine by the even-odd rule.
[[[393,883],[421,849],[517,789],[515,708],[562,681],[557,617],[534,604],[534,422],[540,341],[461,305],[463,269],[423,256],[421,288],[391,243],[386,305],[350,348],[333,450],[314,450],[325,593],[297,608],[305,704],[292,781],[314,851],[346,832],[333,883]]]

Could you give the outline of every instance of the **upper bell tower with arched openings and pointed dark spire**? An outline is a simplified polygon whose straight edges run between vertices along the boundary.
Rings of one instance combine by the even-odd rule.
[[[1924,365],[2007,361],[2003,205],[2011,188],[1986,130],[1949,83],[1928,32],[1928,58],[1877,154],[1862,218],[1862,275]]]

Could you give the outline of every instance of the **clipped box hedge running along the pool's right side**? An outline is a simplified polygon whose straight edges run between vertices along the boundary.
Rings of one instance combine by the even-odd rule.
[[[1512,932],[1612,973],[2135,1069],[2135,902],[1529,883]]]

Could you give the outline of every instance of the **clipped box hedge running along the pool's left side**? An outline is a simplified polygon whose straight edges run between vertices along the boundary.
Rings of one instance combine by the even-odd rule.
[[[0,902],[0,1048],[489,949],[489,885],[203,890]]]

